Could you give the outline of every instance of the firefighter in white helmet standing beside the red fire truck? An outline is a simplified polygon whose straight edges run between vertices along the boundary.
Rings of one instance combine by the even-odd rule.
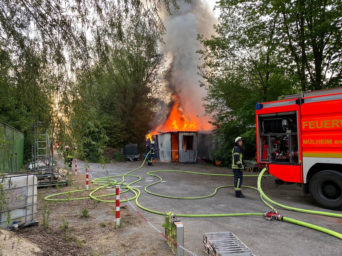
[[[245,195],[241,192],[243,171],[245,169],[244,158],[242,157],[242,143],[243,140],[241,137],[237,137],[235,139],[235,146],[232,151],[232,169],[234,172],[234,189],[235,189],[235,197],[244,198]]]

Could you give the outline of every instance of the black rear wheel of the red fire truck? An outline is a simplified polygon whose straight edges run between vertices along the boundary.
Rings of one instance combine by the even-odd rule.
[[[326,170],[316,173],[310,183],[312,199],[321,207],[342,210],[342,173]]]

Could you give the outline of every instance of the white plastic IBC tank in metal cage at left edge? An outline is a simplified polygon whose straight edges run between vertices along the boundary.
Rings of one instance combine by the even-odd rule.
[[[37,177],[33,173],[3,173],[0,183],[3,193],[8,199],[5,209],[0,209],[0,226],[3,229],[13,229],[38,223],[37,213]],[[2,192],[2,191],[1,191]],[[11,224],[8,225],[8,214]]]

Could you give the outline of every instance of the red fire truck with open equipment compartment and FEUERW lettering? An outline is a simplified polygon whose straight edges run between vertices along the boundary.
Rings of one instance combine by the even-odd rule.
[[[342,210],[342,87],[257,103],[257,162],[275,184],[297,184],[322,208]]]

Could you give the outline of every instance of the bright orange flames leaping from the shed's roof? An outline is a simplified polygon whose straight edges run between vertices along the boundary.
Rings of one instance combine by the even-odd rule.
[[[197,116],[194,115],[192,117],[186,117],[184,115],[179,97],[176,94],[172,96],[172,101],[173,105],[170,109],[166,122],[162,125],[159,125],[155,131],[147,134],[146,139],[150,139],[152,142],[152,135],[157,134],[157,131],[199,131],[210,129],[209,124],[200,124],[198,122]]]

